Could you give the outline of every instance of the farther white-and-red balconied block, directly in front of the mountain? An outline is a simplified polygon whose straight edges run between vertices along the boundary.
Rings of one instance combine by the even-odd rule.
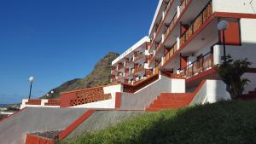
[[[112,83],[136,84],[152,75],[152,69],[148,67],[148,37],[143,37],[125,53],[112,62]]]

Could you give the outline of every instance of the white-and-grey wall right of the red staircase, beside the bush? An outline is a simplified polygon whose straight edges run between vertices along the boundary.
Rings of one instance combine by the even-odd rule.
[[[230,94],[226,91],[226,84],[220,80],[207,80],[201,87],[190,105],[214,103],[230,100]]]

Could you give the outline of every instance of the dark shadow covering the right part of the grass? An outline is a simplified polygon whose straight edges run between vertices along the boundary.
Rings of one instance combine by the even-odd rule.
[[[255,101],[221,101],[175,114],[161,112],[156,122],[123,143],[256,143],[255,112]]]

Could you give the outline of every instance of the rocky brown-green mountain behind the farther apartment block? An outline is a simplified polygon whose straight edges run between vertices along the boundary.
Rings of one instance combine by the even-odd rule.
[[[96,63],[93,71],[90,72],[85,78],[75,78],[69,80],[64,84],[61,84],[55,89],[50,89],[48,94],[49,96],[42,96],[42,99],[51,99],[60,97],[60,93],[64,91],[70,91],[74,89],[85,89],[95,86],[105,85],[110,83],[111,78],[111,62],[119,56],[117,53],[110,52],[108,55],[105,55],[102,60],[99,60]],[[50,91],[53,90],[55,93],[53,96],[50,95]]]

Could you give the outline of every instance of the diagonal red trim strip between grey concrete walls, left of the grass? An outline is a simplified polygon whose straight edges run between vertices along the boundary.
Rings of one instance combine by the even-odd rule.
[[[78,118],[73,124],[70,124],[65,130],[62,130],[59,134],[59,140],[63,140],[68,134],[70,134],[73,130],[75,130],[80,124],[84,122],[87,118],[89,118],[96,110],[90,109],[87,112]]]

